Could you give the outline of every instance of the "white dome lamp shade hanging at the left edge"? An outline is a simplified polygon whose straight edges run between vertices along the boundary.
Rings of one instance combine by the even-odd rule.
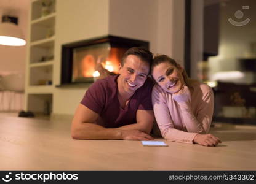
[[[0,45],[22,46],[26,45],[22,30],[11,22],[0,23]]]

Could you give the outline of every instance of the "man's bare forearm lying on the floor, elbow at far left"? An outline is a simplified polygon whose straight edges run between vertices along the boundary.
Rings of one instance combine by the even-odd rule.
[[[78,125],[71,129],[73,139],[122,139],[122,131],[117,128],[104,128],[94,123]]]

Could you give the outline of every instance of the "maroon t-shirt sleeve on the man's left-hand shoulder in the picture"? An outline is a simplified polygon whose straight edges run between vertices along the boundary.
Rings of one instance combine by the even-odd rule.
[[[94,82],[84,94],[81,104],[98,114],[102,113],[106,101],[105,85],[104,80]]]

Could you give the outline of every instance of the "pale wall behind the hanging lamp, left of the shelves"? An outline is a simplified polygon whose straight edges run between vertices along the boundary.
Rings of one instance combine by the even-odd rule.
[[[0,18],[2,15],[18,17],[18,27],[27,39],[29,0],[1,1]],[[0,45],[0,75],[25,73],[26,45],[20,47]]]

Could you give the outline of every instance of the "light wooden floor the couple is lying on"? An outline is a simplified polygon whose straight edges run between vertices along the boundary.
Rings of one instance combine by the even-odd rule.
[[[256,126],[216,124],[217,147],[73,140],[70,121],[0,113],[1,170],[256,170]],[[155,139],[163,140],[163,139]]]

